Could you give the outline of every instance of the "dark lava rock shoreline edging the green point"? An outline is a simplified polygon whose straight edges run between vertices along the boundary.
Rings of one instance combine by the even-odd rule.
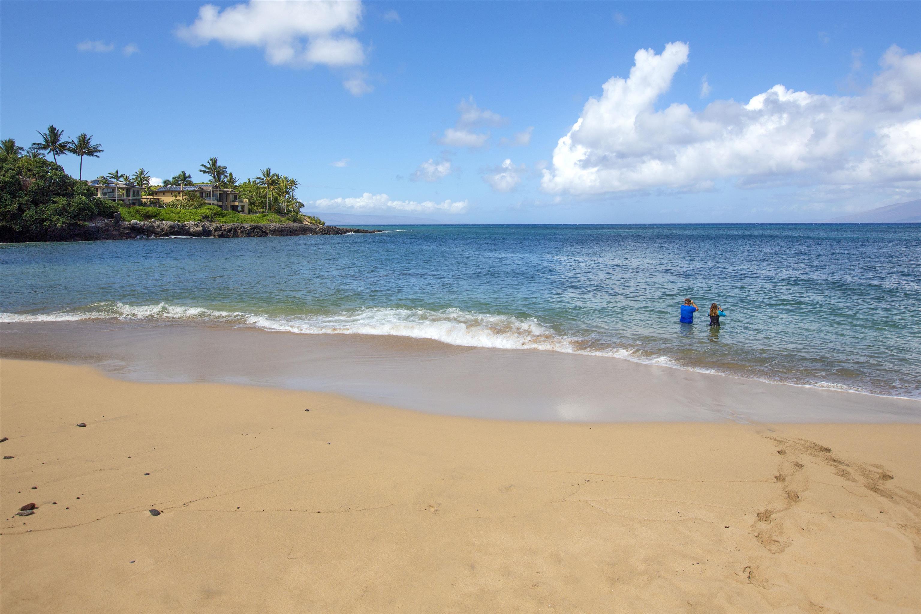
[[[162,237],[298,237],[301,235],[372,234],[379,230],[340,228],[313,224],[216,224],[213,222],[163,222],[145,220],[130,222],[96,218],[84,225],[49,228],[41,234],[4,237],[4,242],[29,241],[106,241],[120,238]]]

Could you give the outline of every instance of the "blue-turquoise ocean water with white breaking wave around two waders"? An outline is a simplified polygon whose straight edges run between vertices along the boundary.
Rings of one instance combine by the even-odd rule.
[[[4,245],[0,322],[400,335],[921,398],[919,225],[384,228]]]

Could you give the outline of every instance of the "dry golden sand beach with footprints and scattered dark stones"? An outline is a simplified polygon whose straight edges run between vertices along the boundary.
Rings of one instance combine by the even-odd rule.
[[[921,609],[917,424],[484,420],[3,360],[0,431],[5,612]]]

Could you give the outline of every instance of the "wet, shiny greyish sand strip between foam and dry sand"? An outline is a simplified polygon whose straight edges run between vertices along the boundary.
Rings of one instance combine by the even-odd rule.
[[[314,390],[479,418],[921,423],[921,400],[847,394],[606,356],[189,321],[18,322],[3,324],[0,333],[0,356],[95,365],[122,379]]]

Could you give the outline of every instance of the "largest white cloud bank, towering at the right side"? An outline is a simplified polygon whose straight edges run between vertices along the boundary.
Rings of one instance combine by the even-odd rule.
[[[921,53],[892,47],[860,96],[771,87],[747,103],[717,100],[692,111],[656,110],[688,45],[640,50],[628,78],[589,98],[542,172],[544,191],[592,194],[649,188],[921,181]]]

